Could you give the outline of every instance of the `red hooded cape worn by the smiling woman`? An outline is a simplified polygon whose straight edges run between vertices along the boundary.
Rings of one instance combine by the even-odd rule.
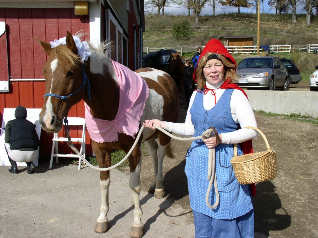
[[[227,49],[223,46],[223,44],[221,43],[221,41],[217,40],[217,39],[211,39],[209,40],[209,42],[205,45],[204,49],[202,50],[199,60],[198,62],[201,60],[201,58],[208,52],[213,52],[213,53],[218,53],[218,54],[222,54],[228,61],[230,61],[231,63],[236,65],[236,61],[234,60],[234,58],[232,57],[232,55],[227,51]],[[197,64],[198,65],[198,64]],[[194,70],[193,73],[193,79],[194,81],[197,81],[197,76],[196,76],[196,69]],[[229,89],[229,88],[234,88],[234,89],[238,89],[241,90],[243,92],[243,94],[247,97],[245,91],[240,88],[237,84],[235,83],[231,83],[230,80],[226,80],[221,87],[222,89]],[[248,140],[245,142],[240,143],[240,146],[243,150],[244,154],[250,154],[253,153],[253,146],[252,146],[252,140]],[[255,184],[250,184],[250,188],[251,188],[251,192],[252,192],[252,196],[255,197],[256,196],[256,187]]]

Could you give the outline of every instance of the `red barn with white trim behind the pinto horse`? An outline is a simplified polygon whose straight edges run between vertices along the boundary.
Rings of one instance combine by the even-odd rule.
[[[4,108],[43,106],[45,79],[42,68],[47,56],[35,37],[50,42],[65,37],[66,31],[74,35],[82,30],[86,33],[82,40],[93,44],[110,40],[111,59],[131,70],[141,67],[143,0],[86,2],[87,15],[76,15],[76,2],[71,0],[0,0],[1,121]],[[68,115],[85,117],[84,101],[73,106]],[[79,133],[76,129],[70,131],[72,137],[80,137]],[[52,136],[41,130],[40,156],[51,154]],[[63,151],[70,151],[66,143],[61,149]],[[87,131],[86,154],[92,154]]]

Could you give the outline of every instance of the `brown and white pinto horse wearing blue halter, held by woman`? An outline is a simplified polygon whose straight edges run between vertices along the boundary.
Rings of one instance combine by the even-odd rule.
[[[130,92],[121,91],[119,78],[116,74],[117,71],[114,68],[114,63],[117,62],[107,57],[104,53],[105,48],[90,46],[91,55],[82,63],[79,60],[79,49],[70,32],[66,33],[66,45],[61,44],[54,48],[51,48],[49,43],[38,38],[36,40],[45,53],[48,54],[48,59],[43,67],[46,94],[43,108],[39,114],[41,127],[49,133],[59,132],[62,128],[63,118],[67,116],[68,110],[82,99],[85,102],[85,107],[89,107],[86,112],[91,114],[92,117],[98,120],[113,121],[117,113],[122,110],[119,107],[121,105],[120,96],[124,95],[126,97],[126,94]],[[140,121],[137,120],[135,125],[136,132],[141,128],[141,122],[146,119],[158,118],[164,121],[177,121],[179,109],[178,100],[175,98],[177,87],[167,73],[153,68],[141,68],[134,73],[127,67],[122,66],[121,68],[125,68],[128,73],[135,76],[140,75],[149,88],[148,98],[147,100],[144,99],[144,110],[140,115]],[[124,109],[126,110],[127,108]],[[130,112],[134,113],[133,109]],[[125,117],[123,119],[126,120]],[[90,132],[87,123],[86,126]],[[102,130],[104,128],[98,129]],[[113,150],[123,150],[127,153],[135,142],[133,135],[120,132],[120,128],[118,128],[117,133],[117,138],[111,142],[92,140],[92,148],[100,168],[111,166],[111,152]],[[155,140],[155,136],[159,138],[159,145]],[[142,136],[128,157],[130,169],[129,187],[133,193],[135,203],[134,221],[132,222],[130,237],[143,236],[142,209],[140,206],[142,142],[145,142],[153,158],[155,175],[149,193],[154,193],[156,198],[162,198],[165,195],[162,184],[163,158],[165,155],[173,157],[169,136],[159,130],[151,130],[149,128],[145,128],[142,131]],[[94,228],[97,233],[105,233],[108,230],[109,184],[110,171],[100,171],[100,216],[97,218]]]

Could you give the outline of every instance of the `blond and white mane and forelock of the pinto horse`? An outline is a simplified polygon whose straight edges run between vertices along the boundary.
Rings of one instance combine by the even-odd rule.
[[[82,33],[82,31],[79,31],[75,35],[81,38],[86,34]],[[103,41],[97,47],[93,46],[93,44],[90,42],[87,42],[87,44],[92,52],[92,55],[94,55],[95,58],[98,58],[100,60],[109,59],[107,56],[110,50],[109,42]],[[74,54],[69,48],[67,48],[66,45],[56,46],[54,48],[54,56],[59,62],[61,62],[62,60],[66,60],[74,67],[77,67],[81,63],[80,56]]]

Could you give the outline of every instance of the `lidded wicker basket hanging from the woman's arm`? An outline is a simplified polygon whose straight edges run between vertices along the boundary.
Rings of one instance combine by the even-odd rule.
[[[267,150],[238,156],[237,144],[234,144],[234,157],[231,159],[231,164],[235,177],[240,184],[264,182],[275,178],[276,152],[271,150],[262,131],[255,127],[245,128],[257,130],[263,137]]]

